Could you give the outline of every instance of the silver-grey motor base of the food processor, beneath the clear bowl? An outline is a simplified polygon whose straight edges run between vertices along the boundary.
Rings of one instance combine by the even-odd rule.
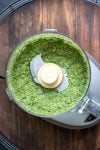
[[[92,97],[96,102],[100,103],[100,65],[89,53],[87,53],[87,56],[91,65],[91,84],[89,93],[92,94]],[[87,128],[97,124],[100,121],[99,118],[95,118],[88,112],[79,114],[77,111],[69,111],[45,120],[55,125],[71,129]]]

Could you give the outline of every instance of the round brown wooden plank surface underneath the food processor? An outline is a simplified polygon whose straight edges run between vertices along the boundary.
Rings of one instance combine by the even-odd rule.
[[[100,62],[100,7],[85,0],[37,0],[0,24],[0,75],[14,47],[45,28],[72,37]],[[0,79],[0,131],[23,150],[100,150],[100,124],[85,130],[54,126],[19,109],[5,89]]]

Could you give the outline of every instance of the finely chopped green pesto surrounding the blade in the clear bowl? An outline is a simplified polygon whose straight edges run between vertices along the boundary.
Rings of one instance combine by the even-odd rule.
[[[68,74],[69,86],[62,92],[36,84],[30,73],[30,61],[37,54],[53,62]],[[57,33],[40,33],[20,44],[7,67],[7,83],[14,101],[35,115],[57,115],[73,108],[84,96],[90,78],[88,60],[70,38]]]

